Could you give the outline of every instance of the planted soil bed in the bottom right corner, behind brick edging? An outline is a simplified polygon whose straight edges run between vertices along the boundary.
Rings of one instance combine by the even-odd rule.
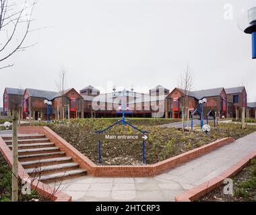
[[[200,202],[256,202],[256,159],[233,178],[233,194],[224,194],[224,185],[200,198]]]

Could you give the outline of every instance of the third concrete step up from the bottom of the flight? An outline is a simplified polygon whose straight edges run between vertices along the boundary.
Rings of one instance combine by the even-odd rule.
[[[28,168],[33,168],[33,167],[43,167],[46,165],[67,163],[67,162],[71,162],[71,161],[72,161],[71,157],[54,157],[51,159],[38,159],[38,160],[33,160],[33,161],[23,161],[20,163],[24,168],[28,169]]]

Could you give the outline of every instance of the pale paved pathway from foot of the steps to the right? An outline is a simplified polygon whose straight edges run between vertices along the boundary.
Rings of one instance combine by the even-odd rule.
[[[174,201],[185,189],[216,177],[253,150],[256,132],[156,177],[85,176],[63,181],[60,189],[73,201]]]

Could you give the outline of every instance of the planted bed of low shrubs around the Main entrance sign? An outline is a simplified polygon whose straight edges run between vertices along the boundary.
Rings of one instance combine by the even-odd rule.
[[[159,121],[159,120],[158,120]],[[117,119],[75,119],[70,124],[47,124],[77,150],[89,159],[98,163],[98,141],[94,139],[95,131],[102,130]],[[247,126],[241,129],[238,124],[220,124],[206,136],[201,130],[182,132],[176,128],[160,128],[155,120],[130,121],[139,129],[150,132],[146,141],[146,164],[157,163],[188,150],[203,146],[214,140],[233,137],[241,138],[256,131],[256,126]],[[139,124],[139,126],[137,125]],[[115,126],[104,134],[139,134],[129,126]],[[111,140],[102,142],[102,163],[99,165],[141,165],[142,142],[129,140]]]

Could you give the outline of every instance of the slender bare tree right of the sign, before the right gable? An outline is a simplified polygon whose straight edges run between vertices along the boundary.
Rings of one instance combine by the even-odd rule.
[[[189,118],[189,91],[193,88],[193,74],[190,71],[189,65],[187,64],[185,70],[181,72],[178,81],[178,87],[183,91],[183,96],[181,97],[181,113],[182,113],[182,130],[185,127],[185,116]]]

